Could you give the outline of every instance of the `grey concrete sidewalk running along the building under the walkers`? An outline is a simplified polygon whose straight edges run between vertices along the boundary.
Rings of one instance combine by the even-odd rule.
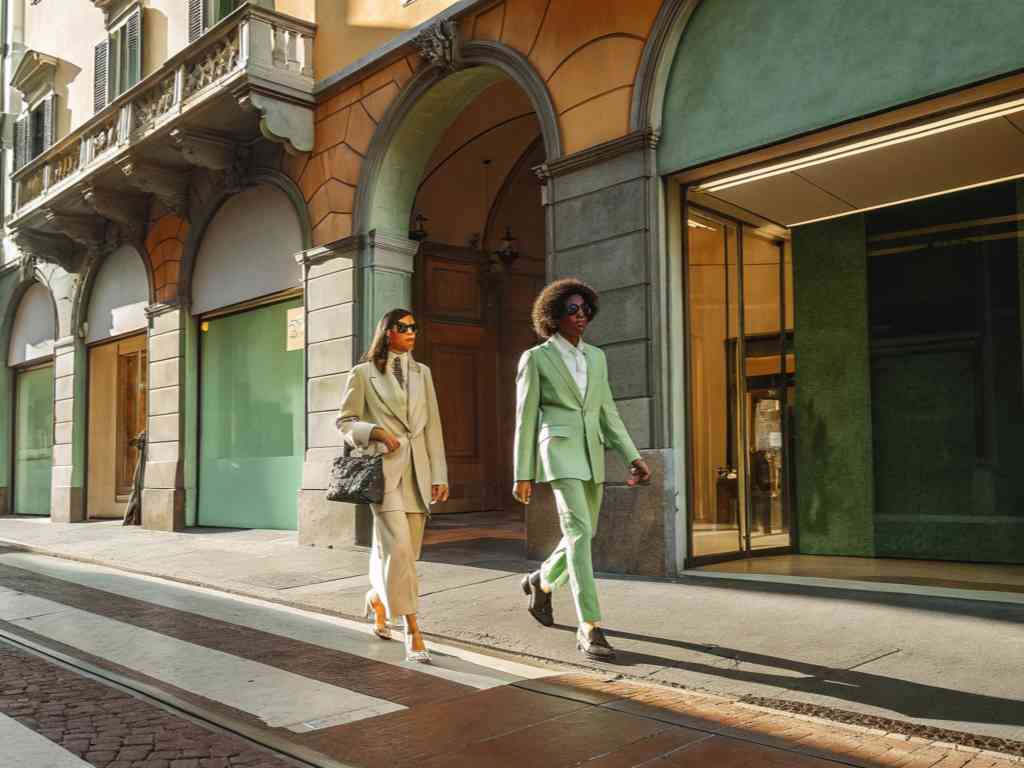
[[[367,589],[366,550],[298,547],[285,531],[163,534],[8,517],[0,518],[0,540],[350,617]],[[605,627],[620,658],[591,664],[574,649],[567,591],[556,595],[554,628],[525,612],[519,579],[530,563],[516,549],[427,547],[420,580],[428,635],[848,722],[874,716],[1024,741],[1024,605],[605,578]]]

